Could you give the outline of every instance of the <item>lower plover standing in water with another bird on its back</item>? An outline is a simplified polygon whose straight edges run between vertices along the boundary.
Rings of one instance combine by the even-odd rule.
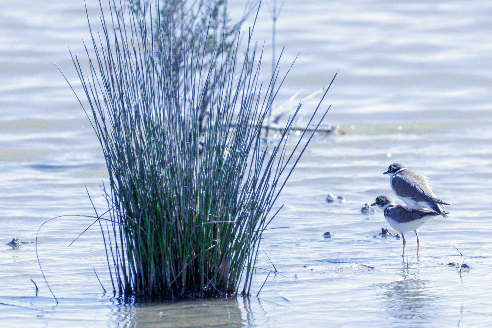
[[[378,196],[376,202],[371,204],[371,206],[374,205],[383,211],[384,218],[390,226],[401,234],[401,238],[403,239],[403,253],[401,256],[405,255],[405,236],[403,236],[403,233],[408,231],[413,231],[415,236],[417,236],[417,255],[419,255],[420,239],[417,229],[429,221],[432,216],[439,214],[425,209],[414,209],[412,212],[409,212],[405,208],[396,205],[393,198],[388,195]]]

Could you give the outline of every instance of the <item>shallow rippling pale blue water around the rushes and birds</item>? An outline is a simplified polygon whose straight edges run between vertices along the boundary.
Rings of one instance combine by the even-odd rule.
[[[232,15],[242,11],[232,1]],[[95,1],[88,1],[93,20]],[[46,223],[33,243],[0,246],[0,318],[21,327],[489,327],[492,242],[492,6],[489,1],[287,1],[277,22],[282,68],[300,52],[278,99],[327,85],[326,122],[345,135],[316,136],[286,185],[262,248],[278,273],[259,297],[119,304],[92,221]],[[3,1],[0,11],[0,241],[34,241],[63,214],[99,212],[104,160],[84,112],[53,62],[76,83],[67,46],[83,55],[83,1]],[[268,10],[255,35],[270,49]],[[267,50],[268,52],[268,50]],[[265,57],[269,57],[266,55]],[[266,73],[270,63],[265,61]],[[304,105],[309,112],[315,100]],[[273,137],[272,137],[273,138]],[[378,236],[392,162],[431,178],[453,204],[401,239]],[[328,193],[345,203],[327,204]],[[330,231],[331,239],[323,238]],[[390,232],[394,231],[390,229]],[[376,236],[376,237],[374,237]],[[3,241],[2,241],[3,240]],[[450,243],[457,247],[453,248]],[[470,269],[448,266],[466,263]],[[259,267],[270,269],[260,257]],[[267,270],[258,270],[256,294]],[[36,296],[36,282],[39,292]]]

